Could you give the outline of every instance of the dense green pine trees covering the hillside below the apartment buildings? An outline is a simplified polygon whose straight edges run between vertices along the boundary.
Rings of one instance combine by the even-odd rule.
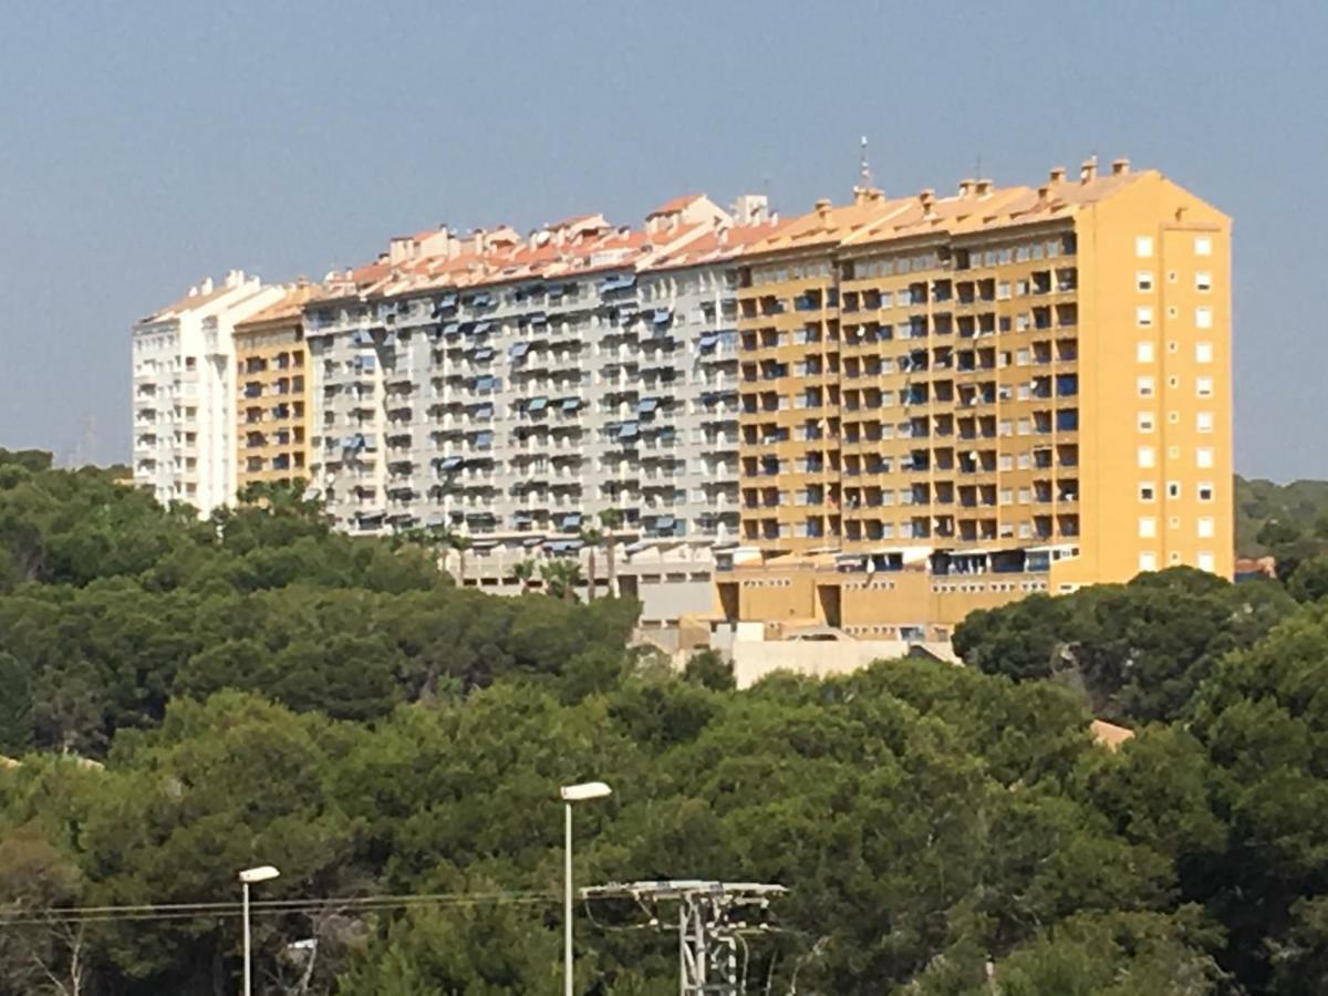
[[[260,993],[558,992],[558,786],[588,778],[579,882],[789,887],[750,992],[1328,991],[1305,586],[1169,571],[976,614],[967,668],[740,693],[628,649],[629,602],[462,591],[255,498],[198,522],[0,456],[0,995],[235,992],[232,915],[61,911],[234,900],[259,863],[264,899],[473,896],[267,911]],[[1096,745],[1094,712],[1137,736]],[[579,911],[583,993],[677,992],[639,923]]]

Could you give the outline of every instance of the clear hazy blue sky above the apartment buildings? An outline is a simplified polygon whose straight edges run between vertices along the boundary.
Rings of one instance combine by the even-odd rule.
[[[1235,218],[1236,467],[1328,477],[1324,3],[42,3],[0,27],[0,445],[129,453],[129,327],[448,222],[785,214],[1090,151]]]

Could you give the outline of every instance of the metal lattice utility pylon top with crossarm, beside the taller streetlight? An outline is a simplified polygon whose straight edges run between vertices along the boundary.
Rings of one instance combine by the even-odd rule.
[[[648,918],[644,926],[676,930],[680,996],[738,996],[746,988],[744,935],[768,930],[765,911],[786,891],[760,882],[669,879],[590,886],[582,898],[629,899]]]

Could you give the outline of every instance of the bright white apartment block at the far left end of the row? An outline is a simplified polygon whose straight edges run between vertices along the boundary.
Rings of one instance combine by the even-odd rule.
[[[161,503],[186,502],[206,515],[232,501],[234,329],[280,296],[235,270],[134,324],[134,485]]]

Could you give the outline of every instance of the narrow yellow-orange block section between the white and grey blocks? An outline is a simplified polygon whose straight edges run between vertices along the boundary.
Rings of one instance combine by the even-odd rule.
[[[255,482],[308,475],[312,416],[304,304],[316,286],[299,283],[286,296],[235,325],[235,440],[240,491]]]

